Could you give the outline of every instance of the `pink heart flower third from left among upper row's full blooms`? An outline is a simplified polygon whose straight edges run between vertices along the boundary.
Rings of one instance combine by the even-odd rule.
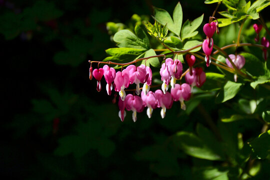
[[[119,92],[119,95],[122,100],[125,98],[125,91],[124,88],[129,86],[129,72],[124,69],[123,71],[116,72],[114,78],[114,90]]]

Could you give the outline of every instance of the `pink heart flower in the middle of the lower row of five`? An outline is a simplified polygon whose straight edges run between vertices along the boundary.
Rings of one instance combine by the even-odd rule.
[[[155,94],[152,91],[149,91],[146,95],[144,92],[141,92],[141,99],[143,101],[144,106],[147,106],[147,115],[150,118],[152,115],[152,111],[154,108],[157,107],[157,99],[155,97]]]

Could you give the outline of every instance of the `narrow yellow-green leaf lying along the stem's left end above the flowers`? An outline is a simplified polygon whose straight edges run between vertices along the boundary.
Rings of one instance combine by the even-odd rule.
[[[111,56],[106,57],[103,61],[130,62],[145,50],[130,47],[114,47],[106,49],[105,51]]]

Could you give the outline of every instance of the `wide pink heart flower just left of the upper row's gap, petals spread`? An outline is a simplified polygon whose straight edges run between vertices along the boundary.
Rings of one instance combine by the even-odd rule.
[[[130,74],[130,72],[129,72]],[[144,64],[141,64],[136,67],[135,71],[133,71],[130,75],[130,83],[136,84],[136,94],[139,95],[140,89],[139,89],[139,83],[145,83],[148,79],[149,74],[146,73],[146,68]]]

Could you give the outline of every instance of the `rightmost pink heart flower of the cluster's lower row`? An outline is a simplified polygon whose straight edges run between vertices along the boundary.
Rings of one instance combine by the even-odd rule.
[[[186,106],[184,104],[184,100],[189,100],[190,95],[191,95],[191,88],[187,83],[183,84],[175,84],[174,88],[170,89],[170,93],[172,96],[172,99],[174,101],[180,101],[181,103],[181,108],[185,110]]]

